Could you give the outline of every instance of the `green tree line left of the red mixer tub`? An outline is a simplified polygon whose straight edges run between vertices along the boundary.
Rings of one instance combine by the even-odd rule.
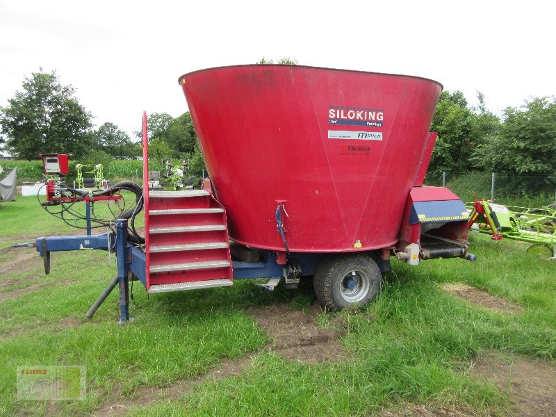
[[[34,72],[22,90],[0,107],[1,132],[8,149],[20,159],[63,153],[83,161],[142,156],[142,132],[131,138],[112,122],[92,129],[92,114],[79,102],[72,85],[63,85],[56,72]],[[149,155],[156,158],[192,158],[200,154],[189,112],[179,117],[149,115]],[[198,164],[197,164],[198,165]]]

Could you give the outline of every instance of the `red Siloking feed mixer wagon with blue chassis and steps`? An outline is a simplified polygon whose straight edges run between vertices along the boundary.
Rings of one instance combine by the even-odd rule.
[[[144,188],[144,243],[128,241],[123,219],[108,247],[95,247],[128,260],[105,291],[120,284],[123,321],[128,279],[158,293],[244,278],[296,288],[314,276],[318,300],[337,311],[373,299],[391,256],[411,265],[475,259],[463,202],[448,188],[423,186],[436,81],[241,65],[191,72],[179,83],[209,179],[201,190]],[[144,117],[145,184],[146,125]],[[65,250],[56,249],[63,240],[49,250],[51,239],[35,243],[41,256]]]

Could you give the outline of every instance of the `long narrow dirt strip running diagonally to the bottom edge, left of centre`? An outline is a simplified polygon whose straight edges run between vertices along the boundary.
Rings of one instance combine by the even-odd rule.
[[[224,361],[210,372],[189,381],[181,381],[177,384],[163,387],[141,387],[134,395],[136,400],[117,400],[112,402],[110,405],[97,410],[95,412],[95,416],[121,416],[132,407],[147,407],[148,405],[163,400],[164,398],[179,398],[181,395],[188,393],[202,382],[237,375],[243,369],[247,368],[247,366],[250,366],[251,361],[252,359],[250,357],[240,357],[238,359]],[[54,416],[54,414],[51,415]]]

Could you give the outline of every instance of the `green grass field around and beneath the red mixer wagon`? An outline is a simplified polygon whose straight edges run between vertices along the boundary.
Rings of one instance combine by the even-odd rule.
[[[393,261],[382,293],[357,312],[316,312],[310,282],[149,298],[136,283],[135,320],[119,326],[117,293],[85,319],[115,276],[106,252],[54,253],[44,275],[34,250],[10,247],[72,231],[32,197],[0,206],[1,416],[519,415],[528,404],[490,377],[500,367],[478,373],[483,359],[529,363],[532,379],[556,375],[556,262],[525,255],[522,243],[473,235],[475,263]],[[511,308],[452,295],[450,283]],[[85,366],[85,400],[17,401],[25,365]]]

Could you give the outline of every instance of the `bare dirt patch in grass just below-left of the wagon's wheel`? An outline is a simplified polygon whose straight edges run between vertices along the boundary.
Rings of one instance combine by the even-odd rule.
[[[266,348],[288,359],[307,363],[337,362],[344,359],[337,329],[325,329],[316,324],[313,315],[291,309],[286,304],[250,309],[256,324],[273,339]]]

